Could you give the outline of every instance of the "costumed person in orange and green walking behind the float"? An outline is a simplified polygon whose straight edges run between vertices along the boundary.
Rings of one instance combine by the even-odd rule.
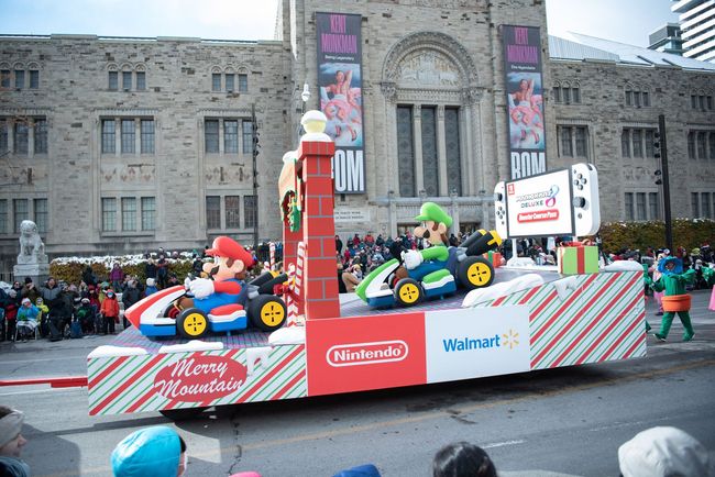
[[[689,269],[683,273],[683,263],[680,258],[666,257],[658,263],[658,271],[662,275],[657,281],[653,281],[650,277],[646,278],[646,282],[654,291],[666,291],[663,296],[663,319],[660,324],[660,332],[656,333],[654,336],[658,341],[664,342],[673,323],[673,318],[678,313],[685,329],[683,341],[691,341],[695,332],[690,321],[691,300],[690,295],[685,293],[685,285],[693,281],[695,270]]]

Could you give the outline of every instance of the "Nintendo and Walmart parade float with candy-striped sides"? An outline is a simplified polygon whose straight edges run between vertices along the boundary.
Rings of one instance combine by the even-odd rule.
[[[221,326],[224,314],[196,308],[177,323],[173,310],[182,313],[197,301],[195,296],[188,308],[177,307],[186,298],[180,287],[163,300],[140,301],[128,310],[134,326],[88,356],[90,414],[170,414],[645,356],[642,270],[602,269],[588,246],[564,247],[558,267],[473,262],[466,268],[492,274],[490,286],[469,290],[459,274],[442,274],[455,286],[432,299],[395,300],[392,271],[360,293],[339,295],[334,144],[322,133],[321,115],[304,117],[307,133],[284,156],[278,203],[287,276],[267,293],[270,304],[252,306],[255,297],[244,297],[243,306],[224,310],[239,313]],[[495,199],[497,226],[490,241],[598,229],[597,174],[590,165],[499,182]],[[416,219],[417,226],[429,221]],[[425,292],[419,280],[410,284]],[[387,298],[373,307],[370,293]],[[152,335],[150,324],[164,332]]]

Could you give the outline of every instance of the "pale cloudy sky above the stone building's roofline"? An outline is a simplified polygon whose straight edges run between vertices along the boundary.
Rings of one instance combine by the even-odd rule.
[[[278,0],[0,0],[0,33],[272,40]],[[437,2],[438,0],[436,0]],[[547,0],[549,33],[648,46],[671,0]]]

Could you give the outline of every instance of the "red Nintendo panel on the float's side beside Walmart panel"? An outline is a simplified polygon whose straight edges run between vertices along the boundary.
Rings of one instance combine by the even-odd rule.
[[[308,396],[427,382],[425,314],[308,320]]]

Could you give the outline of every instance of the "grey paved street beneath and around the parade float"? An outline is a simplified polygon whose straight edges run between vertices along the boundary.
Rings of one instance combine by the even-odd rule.
[[[617,448],[653,425],[675,425],[715,457],[715,312],[693,292],[695,340],[649,340],[648,356],[327,398],[243,404],[173,423],[158,413],[87,415],[86,389],[0,388],[26,412],[24,456],[33,476],[107,476],[113,446],[130,432],[176,426],[189,446],[188,476],[255,469],[270,476],[330,476],[375,463],[384,476],[428,476],[435,452],[465,440],[504,475],[618,475]],[[659,317],[648,303],[653,328]],[[86,355],[108,337],[0,344],[0,378],[86,374]]]

